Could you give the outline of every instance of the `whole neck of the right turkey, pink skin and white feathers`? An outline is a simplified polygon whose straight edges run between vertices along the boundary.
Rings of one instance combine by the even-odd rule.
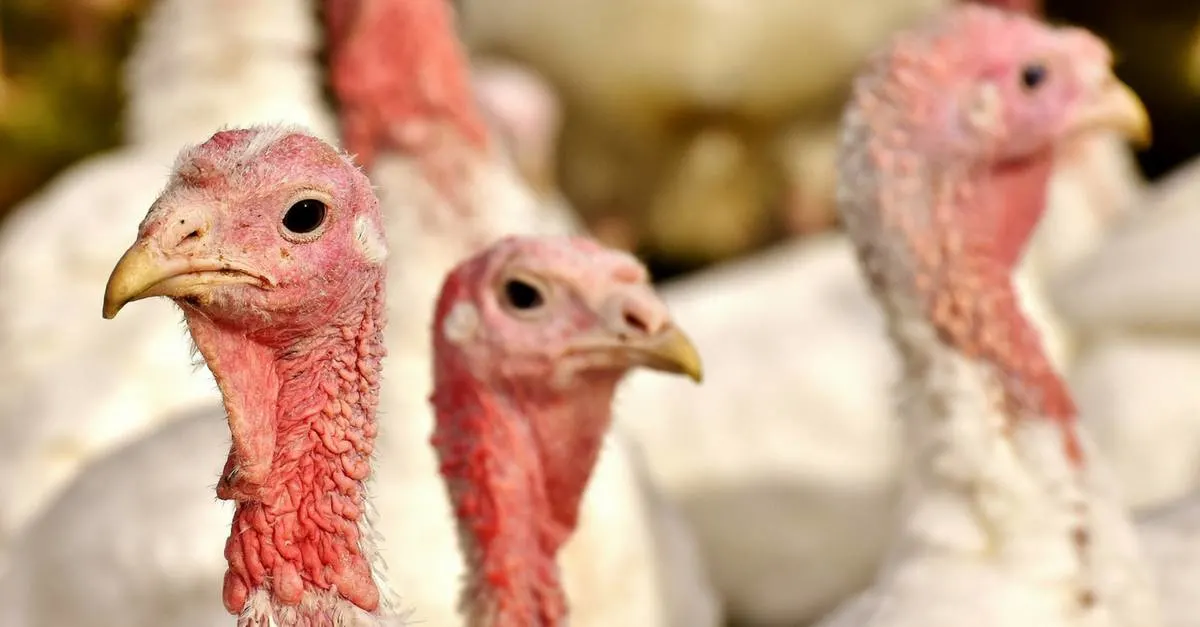
[[[1034,550],[1073,577],[1088,542],[1075,406],[1013,285],[1052,154],[936,173],[889,162],[858,201],[876,207],[850,227],[902,363],[902,536],[1016,560]]]

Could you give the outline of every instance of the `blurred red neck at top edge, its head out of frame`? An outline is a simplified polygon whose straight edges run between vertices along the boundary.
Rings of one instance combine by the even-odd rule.
[[[444,130],[480,149],[487,131],[449,0],[325,0],[342,139],[370,168],[382,151],[437,153]]]

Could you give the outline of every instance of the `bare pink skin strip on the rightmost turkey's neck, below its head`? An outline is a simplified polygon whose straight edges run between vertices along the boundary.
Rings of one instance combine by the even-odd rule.
[[[1045,208],[1052,155],[989,171],[953,174],[935,185],[930,229],[910,233],[917,255],[913,280],[917,303],[911,310],[892,305],[892,320],[928,321],[935,345],[910,324],[892,324],[893,340],[914,377],[926,377],[925,365],[936,347],[946,347],[978,363],[996,381],[998,411],[1012,423],[1050,422],[1057,425],[1062,454],[1084,464],[1076,434],[1076,411],[1055,371],[1038,330],[1021,310],[1013,273]],[[1003,204],[1003,207],[997,207]],[[962,216],[976,223],[955,227]]]

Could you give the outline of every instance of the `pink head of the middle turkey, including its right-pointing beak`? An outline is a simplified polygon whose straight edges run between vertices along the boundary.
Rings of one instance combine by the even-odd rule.
[[[450,274],[436,320],[440,354],[485,382],[571,386],[638,365],[701,378],[642,264],[586,238],[500,240]]]

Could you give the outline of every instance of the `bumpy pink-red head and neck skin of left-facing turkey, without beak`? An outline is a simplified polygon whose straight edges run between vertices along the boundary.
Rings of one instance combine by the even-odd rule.
[[[301,198],[329,211],[298,238],[281,219]],[[348,157],[271,129],[222,131],[185,150],[139,229],[166,255],[220,258],[263,279],[176,299],[233,436],[217,485],[238,502],[226,545],[230,613],[260,589],[277,605],[335,589],[364,610],[379,604],[359,522],[384,354],[382,233],[371,184]]]

